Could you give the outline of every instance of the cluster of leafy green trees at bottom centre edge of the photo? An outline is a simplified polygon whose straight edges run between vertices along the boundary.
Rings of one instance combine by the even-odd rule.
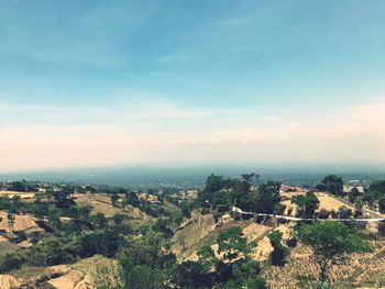
[[[267,288],[260,266],[248,257],[242,230],[233,226],[219,234],[218,255],[207,245],[197,262],[176,263],[163,236],[147,232],[130,237],[119,257],[124,288]],[[216,256],[222,256],[218,258]]]

